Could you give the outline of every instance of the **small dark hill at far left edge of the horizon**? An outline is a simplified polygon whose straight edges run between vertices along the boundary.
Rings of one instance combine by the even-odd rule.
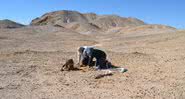
[[[24,25],[20,23],[13,22],[11,20],[0,20],[0,28],[20,28]]]

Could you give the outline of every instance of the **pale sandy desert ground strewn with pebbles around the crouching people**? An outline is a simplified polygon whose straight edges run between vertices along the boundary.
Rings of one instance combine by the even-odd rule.
[[[185,99],[184,42],[185,31],[91,36],[47,26],[1,29],[0,98]],[[128,71],[100,79],[101,71],[61,72],[81,45],[96,45]]]

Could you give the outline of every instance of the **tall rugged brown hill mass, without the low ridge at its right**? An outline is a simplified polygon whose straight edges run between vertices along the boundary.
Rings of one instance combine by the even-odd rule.
[[[101,16],[94,13],[82,14],[76,11],[63,10],[44,14],[40,18],[34,19],[31,25],[66,25],[74,22],[80,23],[80,25],[83,24],[81,25],[83,29],[89,27],[93,30],[96,30],[97,27],[106,30],[111,27],[138,26],[145,24],[143,21],[136,18],[123,18],[115,15]]]

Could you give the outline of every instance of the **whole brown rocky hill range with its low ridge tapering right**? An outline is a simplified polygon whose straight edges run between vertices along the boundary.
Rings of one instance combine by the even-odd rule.
[[[83,34],[96,33],[138,33],[175,30],[165,25],[146,24],[136,18],[125,18],[117,15],[97,15],[77,11],[55,11],[32,20],[32,26],[53,25],[67,28]]]

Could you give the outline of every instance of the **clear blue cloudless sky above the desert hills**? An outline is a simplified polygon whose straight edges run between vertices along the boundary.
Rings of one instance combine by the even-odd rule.
[[[29,24],[56,10],[117,14],[150,24],[185,28],[185,0],[1,0],[0,19]]]

